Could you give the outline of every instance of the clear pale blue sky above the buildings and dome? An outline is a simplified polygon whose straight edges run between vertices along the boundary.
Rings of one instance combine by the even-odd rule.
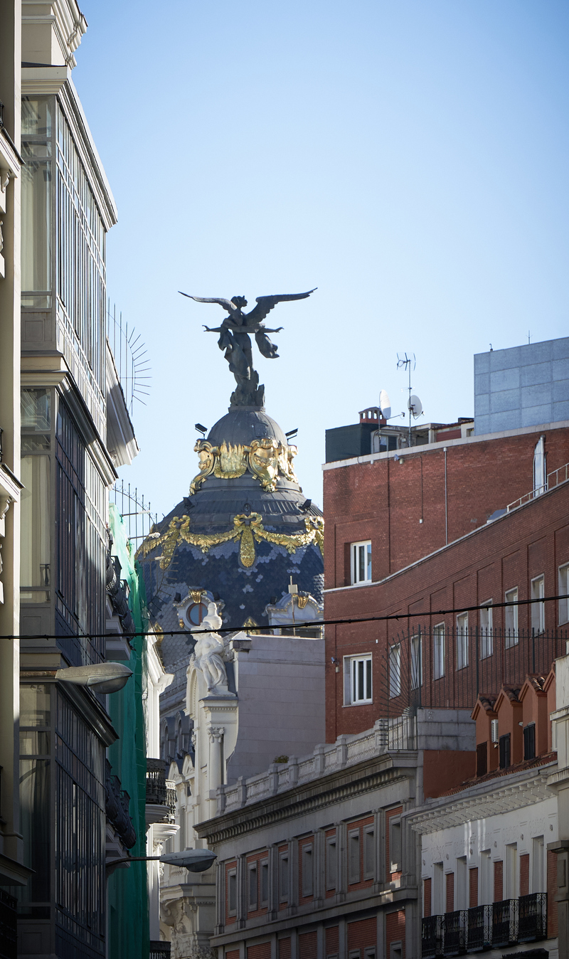
[[[145,340],[140,456],[159,515],[228,406],[220,307],[300,292],[259,357],[320,502],[324,430],[381,387],[473,412],[473,354],[567,335],[566,0],[82,0],[73,78],[119,210],[108,294]]]

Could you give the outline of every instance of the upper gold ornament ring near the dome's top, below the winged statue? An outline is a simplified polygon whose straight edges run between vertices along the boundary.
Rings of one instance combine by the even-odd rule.
[[[237,479],[249,470],[269,493],[274,492],[279,474],[298,482],[293,467],[296,446],[283,446],[269,436],[254,439],[249,446],[231,446],[225,440],[221,446],[212,446],[207,439],[199,439],[194,452],[200,457],[200,472],[190,483],[190,496],[212,474],[217,479]]]

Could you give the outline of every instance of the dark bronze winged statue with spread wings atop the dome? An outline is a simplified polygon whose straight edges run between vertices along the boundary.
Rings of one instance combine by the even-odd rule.
[[[316,287],[314,288],[317,289]],[[259,374],[253,369],[251,341],[249,335],[254,335],[259,352],[268,360],[274,360],[278,353],[277,347],[271,342],[268,333],[278,333],[282,326],[268,329],[263,320],[277,303],[286,300],[306,299],[314,290],[305,293],[278,293],[274,296],[257,296],[257,305],[249,313],[243,313],[247,306],[245,296],[232,296],[230,300],[221,296],[191,296],[181,290],[182,296],[196,300],[198,303],[219,303],[228,316],[221,326],[205,326],[207,333],[219,333],[218,346],[225,350],[225,360],[229,363],[235,381],[236,389],[231,394],[232,407],[262,407],[265,403],[265,387],[259,386]]]

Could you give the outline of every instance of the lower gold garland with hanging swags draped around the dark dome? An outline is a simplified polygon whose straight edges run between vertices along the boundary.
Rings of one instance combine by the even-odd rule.
[[[289,553],[296,552],[301,547],[310,546],[314,543],[319,547],[323,556],[324,521],[320,516],[305,517],[306,531],[289,534],[270,532],[263,526],[262,519],[260,513],[250,513],[249,516],[240,513],[233,517],[233,528],[226,532],[192,533],[190,532],[189,516],[175,516],[163,533],[158,533],[153,528],[150,535],[140,545],[136,555],[147,556],[149,552],[162,547],[162,555],[159,557],[160,569],[166,570],[172,562],[174,550],[181,541],[189,543],[190,546],[199,547],[202,552],[207,552],[212,546],[219,546],[220,543],[228,543],[231,540],[239,540],[239,557],[243,565],[249,568],[255,561],[255,542],[260,543],[265,540],[268,543],[274,543],[276,546],[284,546]]]

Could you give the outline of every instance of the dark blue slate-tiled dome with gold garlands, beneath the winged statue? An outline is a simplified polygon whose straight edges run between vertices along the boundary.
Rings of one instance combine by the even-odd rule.
[[[227,456],[239,451],[239,459],[243,449],[251,444],[254,449],[255,441],[258,445],[263,440],[273,462],[281,457],[273,488],[264,488],[262,477],[249,466],[240,465],[239,476],[222,475],[218,451],[224,444]],[[196,449],[201,444],[213,449],[218,475],[201,474],[195,491],[154,527],[137,552],[152,619],[164,631],[179,629],[175,603],[190,592],[197,596],[206,591],[220,603],[224,626],[268,627],[266,607],[287,593],[291,576],[299,592],[321,603],[322,514],[287,467],[286,457],[292,457],[295,448],[289,447],[285,433],[264,409],[231,408]],[[240,462],[249,463],[250,453],[243,456]],[[165,637],[165,662],[179,656],[182,646],[189,652],[193,644],[191,637]]]

